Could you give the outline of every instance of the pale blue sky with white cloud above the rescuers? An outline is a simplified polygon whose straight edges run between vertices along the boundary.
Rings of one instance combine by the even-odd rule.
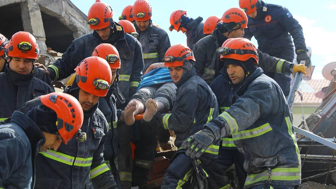
[[[95,0],[71,0],[83,13],[87,15],[90,6]],[[135,0],[101,0],[108,3],[113,11],[113,19],[118,22],[118,17],[127,5]],[[186,36],[182,32],[168,30],[170,14],[178,9],[187,11],[187,16],[197,18],[201,16],[205,21],[209,16],[222,16],[225,10],[232,7],[239,7],[238,0],[149,0],[152,5],[152,20],[154,24],[164,29],[170,39],[171,45],[177,43],[186,44]],[[323,67],[336,61],[335,37],[336,25],[335,14],[336,0],[265,0],[266,3],[279,4],[289,9],[293,17],[303,28],[304,38],[307,46],[312,49],[311,62],[316,66],[312,79],[324,79],[322,76]],[[255,39],[252,42],[257,46]]]

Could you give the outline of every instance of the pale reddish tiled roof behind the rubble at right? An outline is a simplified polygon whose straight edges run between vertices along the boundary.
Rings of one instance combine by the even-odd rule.
[[[312,93],[299,91],[303,96],[302,103],[322,103],[322,99],[326,93],[322,88],[328,87],[330,81],[326,79],[311,79],[305,81],[314,91]],[[295,93],[294,103],[301,103],[300,96],[297,93]]]

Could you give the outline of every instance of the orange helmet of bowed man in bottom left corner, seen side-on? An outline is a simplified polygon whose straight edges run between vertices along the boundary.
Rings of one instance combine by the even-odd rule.
[[[80,141],[86,139],[86,134],[81,133],[80,129],[84,119],[83,109],[75,97],[67,93],[52,92],[41,96],[41,102],[56,112],[58,134],[65,144],[74,137]]]

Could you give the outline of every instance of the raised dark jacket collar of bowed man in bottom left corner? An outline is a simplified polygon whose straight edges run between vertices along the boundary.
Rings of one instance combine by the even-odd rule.
[[[45,142],[44,135],[36,123],[28,116],[19,111],[14,111],[10,122],[19,125],[26,133],[32,147],[32,157],[36,157],[40,146]]]

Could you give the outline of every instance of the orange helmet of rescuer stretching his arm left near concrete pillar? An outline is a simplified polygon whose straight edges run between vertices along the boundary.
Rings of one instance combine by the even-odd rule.
[[[91,30],[100,30],[109,27],[113,22],[114,12],[110,5],[96,0],[87,13],[87,24]]]

